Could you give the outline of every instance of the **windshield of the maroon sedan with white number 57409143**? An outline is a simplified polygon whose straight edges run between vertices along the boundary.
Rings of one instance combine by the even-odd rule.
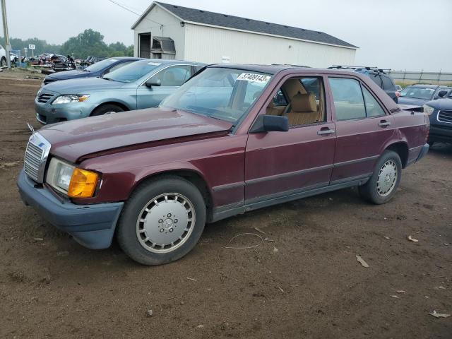
[[[256,102],[271,76],[209,67],[184,83],[160,107],[182,109],[236,123]]]

